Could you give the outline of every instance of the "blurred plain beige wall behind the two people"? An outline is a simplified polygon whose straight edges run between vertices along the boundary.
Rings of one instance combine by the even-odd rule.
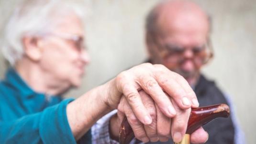
[[[91,7],[86,36],[91,63],[78,97],[144,62],[144,20],[159,0],[77,0]],[[247,143],[256,144],[256,0],[194,0],[212,15],[214,60],[203,72],[232,96]],[[17,0],[0,0],[0,36]],[[0,39],[0,42],[2,39]],[[0,78],[6,65],[0,56]]]

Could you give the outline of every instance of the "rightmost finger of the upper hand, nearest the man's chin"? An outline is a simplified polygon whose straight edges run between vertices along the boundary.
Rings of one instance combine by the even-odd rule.
[[[189,98],[189,100],[191,102],[191,107],[192,108],[199,107],[197,96],[196,96],[195,92],[193,91],[193,89],[190,87],[189,83],[181,75],[176,76],[176,81],[180,84],[180,86],[187,93],[187,98]]]

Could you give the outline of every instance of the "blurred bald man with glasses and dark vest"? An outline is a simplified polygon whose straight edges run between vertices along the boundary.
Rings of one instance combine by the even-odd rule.
[[[212,57],[211,21],[195,3],[166,0],[159,3],[146,21],[146,44],[149,62],[163,64],[179,73],[194,89],[200,106],[232,103],[214,82],[207,80],[201,67]],[[228,119],[218,119],[204,126],[209,133],[207,144],[245,144],[232,111]]]

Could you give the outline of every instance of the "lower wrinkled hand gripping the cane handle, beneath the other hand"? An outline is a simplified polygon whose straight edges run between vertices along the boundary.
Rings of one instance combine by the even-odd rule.
[[[134,131],[135,137],[143,142],[156,142],[158,140],[166,142],[171,137],[175,142],[180,142],[186,132],[191,109],[182,110],[176,103],[174,103],[174,101],[172,101],[177,114],[171,119],[159,110],[158,106],[147,93],[140,91],[139,94],[147,112],[150,113],[150,116],[152,117],[152,123],[149,125],[141,123],[136,118],[125,97],[122,97],[121,102],[118,105],[117,114],[119,127],[125,115]],[[204,143],[207,138],[207,133],[200,128],[191,134],[191,143],[201,144]]]

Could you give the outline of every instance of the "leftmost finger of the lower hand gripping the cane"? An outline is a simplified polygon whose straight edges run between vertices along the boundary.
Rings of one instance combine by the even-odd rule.
[[[138,140],[141,140],[145,143],[148,142],[149,138],[147,137],[147,135],[145,133],[143,124],[137,119],[137,117],[133,113],[133,110],[131,109],[128,102],[126,101],[126,99],[124,97],[122,97],[120,102],[122,103],[122,105],[120,105],[120,104],[118,105],[118,110],[120,112],[124,113],[125,116],[127,117],[128,123],[131,125],[131,127],[133,129],[135,137]],[[120,116],[119,118],[122,118],[122,116]],[[121,122],[122,122],[122,120],[121,120]]]

